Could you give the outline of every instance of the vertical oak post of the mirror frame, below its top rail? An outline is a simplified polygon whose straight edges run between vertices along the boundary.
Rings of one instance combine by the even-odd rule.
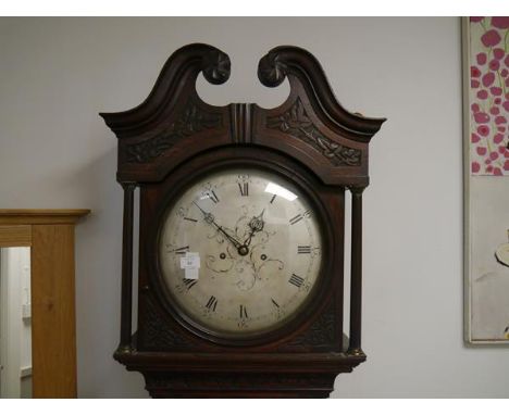
[[[74,226],[32,234],[34,398],[75,398]]]

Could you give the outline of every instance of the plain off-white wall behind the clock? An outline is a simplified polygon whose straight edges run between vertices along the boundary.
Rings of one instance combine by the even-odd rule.
[[[111,357],[119,340],[122,192],[99,111],[145,99],[166,58],[204,41],[233,62],[211,103],[272,106],[258,84],[277,45],[307,48],[344,105],[386,116],[364,193],[368,362],[343,397],[506,397],[507,349],[462,342],[461,72],[458,18],[0,20],[0,205],[90,208],[77,227],[80,397],[146,397]]]

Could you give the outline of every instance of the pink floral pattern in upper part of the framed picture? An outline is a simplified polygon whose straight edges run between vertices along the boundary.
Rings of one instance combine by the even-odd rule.
[[[470,17],[470,172],[509,176],[509,17]]]

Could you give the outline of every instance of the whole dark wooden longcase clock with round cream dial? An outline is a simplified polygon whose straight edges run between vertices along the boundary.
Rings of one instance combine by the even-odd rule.
[[[121,342],[114,357],[152,397],[328,397],[361,349],[361,209],[368,144],[383,118],[336,101],[316,59],[260,61],[274,109],[213,106],[196,91],[229,76],[208,45],[170,56],[148,98],[101,113],[124,188]],[[134,191],[140,189],[137,330]],[[345,192],[351,191],[350,332],[344,335]]]

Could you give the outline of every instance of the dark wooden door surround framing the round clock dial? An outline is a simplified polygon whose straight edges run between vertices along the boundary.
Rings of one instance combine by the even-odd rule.
[[[203,167],[206,166],[206,167]],[[318,219],[323,229],[322,247],[322,269],[320,272],[316,287],[310,295],[310,301],[305,304],[302,312],[284,327],[265,332],[263,335],[228,336],[216,334],[199,327],[196,323],[189,320],[187,315],[178,310],[171,301],[171,293],[166,289],[159,264],[159,240],[161,224],[164,219],[167,206],[186,188],[203,175],[214,171],[228,167],[237,168],[263,168],[286,177],[303,190],[310,201],[313,203],[315,212],[319,212]],[[305,330],[313,316],[320,313],[331,302],[340,304],[343,302],[343,276],[338,269],[343,268],[344,241],[340,239],[343,232],[333,232],[333,229],[343,229],[344,224],[344,192],[328,192],[326,187],[320,184],[312,172],[290,159],[273,151],[264,149],[247,149],[239,147],[224,147],[222,149],[208,151],[183,164],[181,168],[174,171],[161,185],[147,185],[141,187],[140,210],[140,247],[145,247],[145,252],[140,252],[140,275],[139,286],[144,289],[139,292],[140,314],[138,322],[138,350],[151,350],[150,342],[147,344],[145,327],[147,318],[145,313],[145,301],[150,302],[154,310],[160,313],[161,322],[167,327],[179,331],[178,327],[185,329],[179,331],[183,337],[189,336],[188,343],[184,345],[183,351],[195,350],[196,347],[210,350],[219,350],[219,345],[244,345],[251,347],[247,350],[270,350],[271,348],[282,347],[282,343],[288,337],[295,336],[294,331]],[[339,237],[339,238],[338,238]],[[338,240],[339,239],[339,240]],[[338,289],[336,289],[338,285]],[[337,297],[334,297],[334,294]],[[158,304],[158,307],[156,307]],[[166,317],[171,318],[166,318]],[[172,320],[178,324],[172,326]],[[334,331],[340,337],[343,332],[342,322],[336,322]],[[200,339],[201,338],[201,339]],[[201,341],[206,340],[206,341]],[[193,347],[195,344],[195,347]],[[170,345],[175,350],[175,345]],[[326,344],[314,344],[306,348],[312,350],[335,350],[340,351],[340,344],[331,342]]]

